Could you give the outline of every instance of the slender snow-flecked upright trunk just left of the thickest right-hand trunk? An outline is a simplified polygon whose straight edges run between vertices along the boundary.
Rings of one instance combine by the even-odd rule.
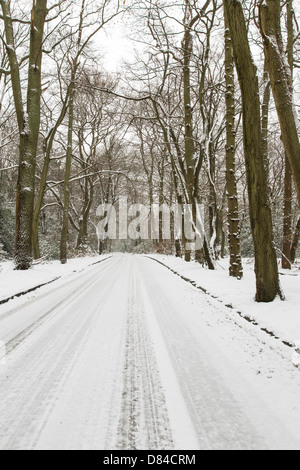
[[[225,79],[226,79],[226,189],[228,201],[228,239],[230,253],[229,274],[243,277],[238,193],[235,171],[236,131],[235,131],[235,83],[234,60],[230,29],[226,9],[225,16]]]

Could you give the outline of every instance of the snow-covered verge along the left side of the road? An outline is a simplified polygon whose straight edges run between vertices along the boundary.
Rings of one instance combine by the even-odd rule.
[[[110,255],[73,258],[67,264],[49,261],[36,264],[29,271],[15,271],[13,261],[0,263],[0,302],[58,278],[67,278]]]

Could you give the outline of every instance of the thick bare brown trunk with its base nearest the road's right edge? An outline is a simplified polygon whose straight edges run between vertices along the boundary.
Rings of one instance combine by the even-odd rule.
[[[267,171],[262,151],[257,69],[250,51],[241,2],[224,0],[224,5],[242,94],[244,153],[255,252],[256,301],[272,302],[277,294],[282,293],[273,239]]]

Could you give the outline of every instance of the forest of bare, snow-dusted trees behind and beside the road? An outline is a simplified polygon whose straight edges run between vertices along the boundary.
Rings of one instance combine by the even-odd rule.
[[[300,234],[295,0],[0,0],[0,256],[16,269],[105,251],[214,270],[254,258],[284,298]],[[130,60],[105,68],[105,35]],[[125,38],[124,38],[125,40]],[[121,45],[120,45],[121,47]],[[203,247],[97,237],[97,207],[204,207]],[[160,229],[161,229],[160,224]]]

